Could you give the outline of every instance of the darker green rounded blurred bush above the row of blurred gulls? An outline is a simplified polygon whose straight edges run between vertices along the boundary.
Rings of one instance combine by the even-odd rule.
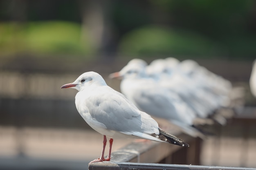
[[[119,52],[132,55],[216,55],[218,44],[188,31],[156,26],[135,29],[120,42]]]

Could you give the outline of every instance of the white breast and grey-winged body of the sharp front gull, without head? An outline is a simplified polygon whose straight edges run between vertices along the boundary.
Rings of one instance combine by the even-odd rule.
[[[138,110],[124,95],[108,86],[95,90],[80,91],[76,95],[76,108],[86,122],[97,121],[108,130],[130,135],[133,132],[159,134],[157,122]]]

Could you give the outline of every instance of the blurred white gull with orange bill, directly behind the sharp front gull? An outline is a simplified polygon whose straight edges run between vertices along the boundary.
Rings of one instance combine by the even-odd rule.
[[[130,61],[111,78],[122,77],[120,89],[140,110],[170,121],[193,137],[205,135],[193,127],[196,113],[174,92],[162,88],[156,80],[146,74],[141,60]]]

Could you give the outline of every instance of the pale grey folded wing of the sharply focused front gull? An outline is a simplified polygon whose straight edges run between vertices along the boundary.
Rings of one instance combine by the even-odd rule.
[[[92,118],[104,124],[108,130],[133,135],[134,132],[159,133],[157,122],[143,113],[124,95],[113,91],[100,97],[90,97],[93,107],[88,107]],[[97,99],[97,100],[96,100]]]

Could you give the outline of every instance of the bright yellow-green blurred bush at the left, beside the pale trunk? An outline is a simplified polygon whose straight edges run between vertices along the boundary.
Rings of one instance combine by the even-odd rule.
[[[88,35],[81,36],[81,26],[72,22],[2,23],[0,34],[2,54],[84,55],[94,52]]]

